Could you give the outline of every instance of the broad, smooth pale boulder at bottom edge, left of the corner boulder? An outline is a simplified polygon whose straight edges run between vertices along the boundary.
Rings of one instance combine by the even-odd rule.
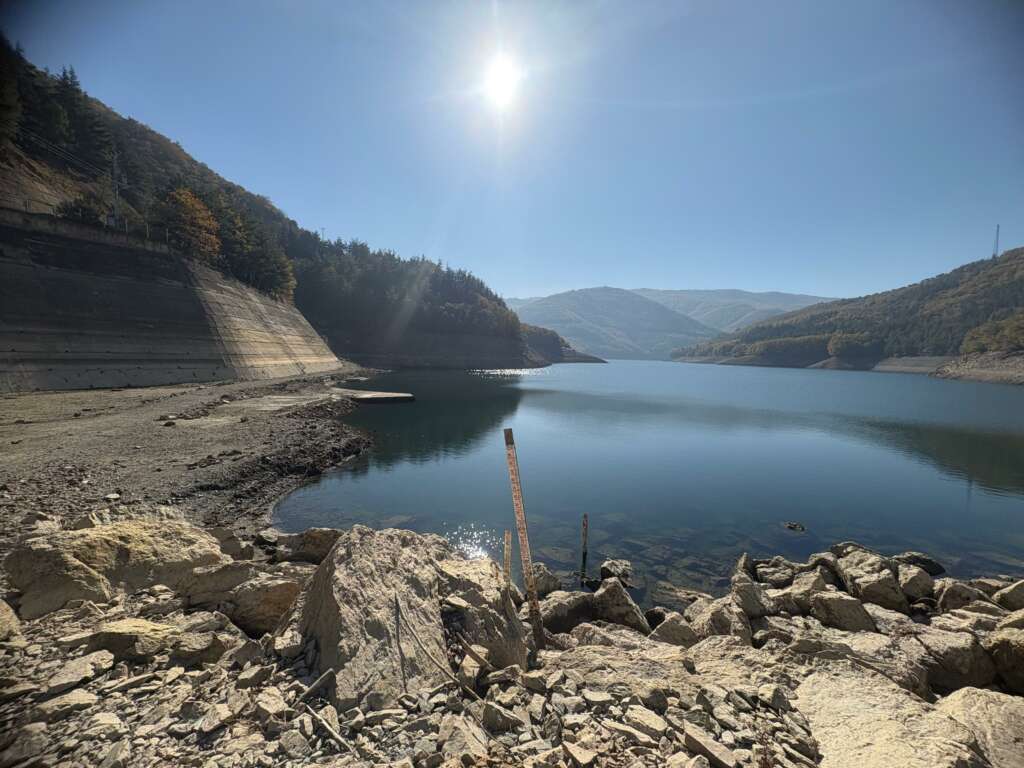
[[[796,692],[821,768],[987,768],[970,729],[860,666],[816,668]]]

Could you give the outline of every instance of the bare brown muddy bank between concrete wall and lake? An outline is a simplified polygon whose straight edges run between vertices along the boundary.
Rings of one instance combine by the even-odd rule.
[[[39,520],[144,504],[251,532],[281,496],[367,445],[332,391],[361,373],[4,395],[0,551]]]

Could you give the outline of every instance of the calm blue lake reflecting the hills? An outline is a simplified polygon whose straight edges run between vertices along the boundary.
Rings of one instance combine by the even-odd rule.
[[[534,558],[578,567],[587,513],[590,569],[632,560],[641,599],[663,580],[721,592],[743,551],[803,559],[844,540],[1024,574],[1024,388],[639,360],[356,386],[417,400],[360,407],[374,447],[284,499],[281,529],[407,527],[500,562],[511,427]]]

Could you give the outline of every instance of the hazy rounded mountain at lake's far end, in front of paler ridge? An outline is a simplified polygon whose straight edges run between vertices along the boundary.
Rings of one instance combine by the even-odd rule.
[[[601,357],[669,359],[673,349],[718,331],[622,288],[587,288],[538,299],[509,299],[523,323],[558,332]]]

